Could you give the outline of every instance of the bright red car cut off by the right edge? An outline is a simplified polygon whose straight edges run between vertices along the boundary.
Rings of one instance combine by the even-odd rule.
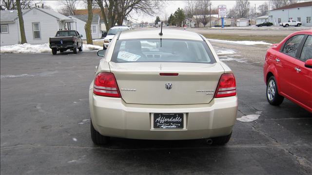
[[[312,30],[294,32],[267,51],[263,66],[267,99],[284,97],[312,113]]]

